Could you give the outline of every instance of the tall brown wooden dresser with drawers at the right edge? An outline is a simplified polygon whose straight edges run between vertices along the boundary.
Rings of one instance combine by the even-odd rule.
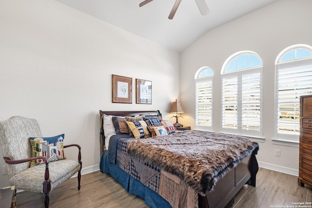
[[[312,187],[312,95],[300,97],[298,185]]]

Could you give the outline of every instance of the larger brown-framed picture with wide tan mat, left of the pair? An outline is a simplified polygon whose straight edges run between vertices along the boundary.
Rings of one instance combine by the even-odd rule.
[[[112,75],[112,102],[132,103],[132,78]]]

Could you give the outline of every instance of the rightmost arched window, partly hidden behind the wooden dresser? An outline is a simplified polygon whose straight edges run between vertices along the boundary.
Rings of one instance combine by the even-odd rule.
[[[275,60],[275,139],[299,142],[301,95],[312,94],[312,47],[293,45]]]

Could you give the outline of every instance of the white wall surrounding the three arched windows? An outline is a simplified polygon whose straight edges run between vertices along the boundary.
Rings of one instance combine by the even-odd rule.
[[[263,60],[263,127],[258,161],[298,170],[299,151],[295,147],[274,145],[274,62],[277,55],[294,44],[312,45],[312,1],[279,0],[253,13],[235,19],[195,41],[181,54],[181,104],[183,123],[194,127],[195,72],[202,66],[214,72],[214,129],[221,124],[221,79],[224,61],[238,51],[254,51]],[[190,101],[191,100],[191,101]],[[274,156],[274,149],[281,156]]]

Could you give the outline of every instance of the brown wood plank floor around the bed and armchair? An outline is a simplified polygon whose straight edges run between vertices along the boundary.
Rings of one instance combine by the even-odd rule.
[[[272,208],[312,202],[312,188],[299,187],[297,177],[259,169],[256,187],[245,185],[235,196],[232,208]],[[148,208],[143,199],[129,194],[111,176],[100,171],[67,180],[50,192],[50,208]],[[17,208],[42,208],[43,194],[17,193]]]

